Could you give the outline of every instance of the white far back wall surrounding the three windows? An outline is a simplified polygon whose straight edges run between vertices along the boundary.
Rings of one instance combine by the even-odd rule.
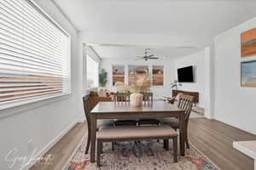
[[[174,61],[172,59],[160,60],[160,61],[141,61],[141,60],[128,60],[128,59],[102,59],[102,69],[108,72],[108,84],[107,88],[111,91],[116,91],[113,87],[112,80],[112,65],[125,65],[125,83],[128,83],[128,65],[164,65],[165,66],[165,79],[164,86],[153,86],[151,88],[154,93],[154,99],[160,99],[161,96],[171,96],[172,89],[170,84],[175,78],[174,73]],[[149,69],[150,71],[150,69]]]

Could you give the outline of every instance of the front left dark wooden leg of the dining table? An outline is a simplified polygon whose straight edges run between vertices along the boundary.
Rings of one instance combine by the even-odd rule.
[[[96,152],[96,116],[91,114],[90,118],[90,162],[94,162]]]

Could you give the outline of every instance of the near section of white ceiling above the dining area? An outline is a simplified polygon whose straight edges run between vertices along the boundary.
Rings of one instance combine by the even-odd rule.
[[[79,31],[216,35],[256,15],[253,0],[54,0]]]

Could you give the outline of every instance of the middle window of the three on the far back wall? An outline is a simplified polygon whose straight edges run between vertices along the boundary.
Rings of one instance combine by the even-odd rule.
[[[148,76],[148,65],[129,65],[129,84],[143,81]]]

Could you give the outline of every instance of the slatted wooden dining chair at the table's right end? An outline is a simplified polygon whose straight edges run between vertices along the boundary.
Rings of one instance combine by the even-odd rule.
[[[190,116],[190,113],[192,110],[193,102],[194,102],[194,97],[185,95],[185,94],[180,94],[179,100],[177,101],[177,107],[185,110],[185,117],[184,117],[185,135],[184,136],[186,138],[185,141],[186,141],[186,146],[188,149],[189,149],[188,125],[189,125],[189,116]],[[179,127],[180,127],[180,120],[175,117],[163,118],[163,119],[161,119],[161,122],[163,124],[167,124],[167,125],[171,126],[175,130],[179,129]]]

